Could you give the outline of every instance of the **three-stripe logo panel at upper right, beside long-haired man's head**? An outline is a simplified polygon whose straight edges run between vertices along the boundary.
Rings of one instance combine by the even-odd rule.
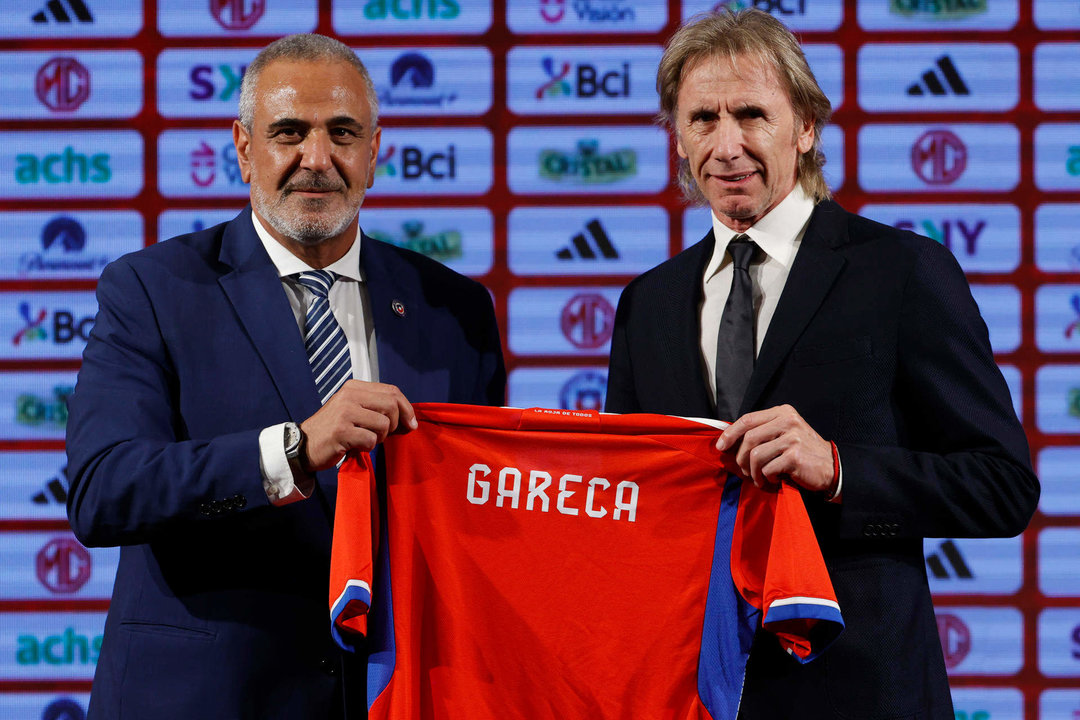
[[[1012,44],[872,43],[859,50],[859,105],[869,112],[1011,110],[1018,99],[1020,53]]]

